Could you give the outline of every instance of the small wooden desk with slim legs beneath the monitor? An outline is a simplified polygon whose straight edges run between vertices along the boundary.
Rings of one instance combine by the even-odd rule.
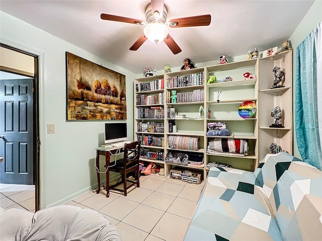
[[[96,193],[100,193],[101,189],[101,177],[100,177],[100,155],[105,156],[105,165],[106,165],[106,197],[110,196],[110,170],[108,167],[110,166],[110,157],[111,153],[115,154],[120,149],[120,153],[124,152],[123,148],[112,147],[109,149],[97,148],[96,149],[96,167],[97,167],[97,182],[98,182],[98,189]]]

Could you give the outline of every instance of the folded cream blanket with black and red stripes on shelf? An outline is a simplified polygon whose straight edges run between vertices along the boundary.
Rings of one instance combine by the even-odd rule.
[[[247,139],[213,138],[209,140],[208,149],[217,152],[247,153]]]

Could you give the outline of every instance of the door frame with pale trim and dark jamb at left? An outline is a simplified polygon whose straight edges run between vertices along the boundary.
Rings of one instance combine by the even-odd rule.
[[[41,142],[44,143],[44,81],[43,81],[43,57],[44,53],[32,50],[30,48],[17,45],[15,43],[0,40],[1,47],[11,49],[16,52],[20,52],[32,57],[35,57],[34,76],[34,177],[35,177],[35,211],[45,208],[45,183],[44,183],[44,145],[41,146]],[[20,72],[12,72],[10,70],[2,69],[6,72],[18,73],[25,75]],[[30,75],[25,75],[30,77]]]

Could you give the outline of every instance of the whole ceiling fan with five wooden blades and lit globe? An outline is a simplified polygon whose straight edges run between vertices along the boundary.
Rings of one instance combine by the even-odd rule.
[[[146,26],[144,28],[144,34],[138,38],[138,40],[131,46],[130,50],[138,50],[138,48],[147,39],[154,43],[164,40],[166,45],[174,54],[179,54],[182,50],[168,33],[167,26],[170,28],[208,26],[211,21],[211,16],[208,14],[172,19],[167,23],[167,8],[164,5],[164,0],[151,0],[151,4],[147,6],[145,11],[146,22],[110,14],[101,14],[101,19]]]

